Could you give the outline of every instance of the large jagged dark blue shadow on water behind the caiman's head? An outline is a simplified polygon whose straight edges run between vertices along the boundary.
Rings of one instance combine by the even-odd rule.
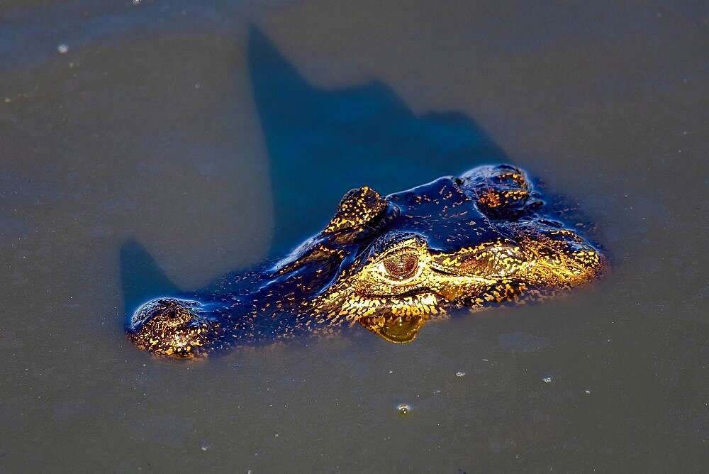
[[[353,187],[367,184],[389,194],[483,162],[508,162],[465,114],[415,116],[376,80],[344,89],[313,87],[254,26],[248,64],[271,158],[273,254],[327,224]]]

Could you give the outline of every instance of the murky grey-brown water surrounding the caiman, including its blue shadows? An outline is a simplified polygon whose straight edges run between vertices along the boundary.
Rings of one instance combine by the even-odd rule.
[[[5,4],[0,470],[706,470],[708,25],[669,1]],[[603,282],[403,346],[125,340],[124,296],[279,253],[351,187],[501,160],[581,204]]]

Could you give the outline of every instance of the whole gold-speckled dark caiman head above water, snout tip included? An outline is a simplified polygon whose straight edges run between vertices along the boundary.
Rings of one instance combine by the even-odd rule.
[[[328,226],[286,258],[154,299],[130,317],[128,337],[174,358],[356,324],[408,343],[450,309],[549,297],[599,274],[598,250],[542,207],[510,165],[386,197],[352,189]]]

